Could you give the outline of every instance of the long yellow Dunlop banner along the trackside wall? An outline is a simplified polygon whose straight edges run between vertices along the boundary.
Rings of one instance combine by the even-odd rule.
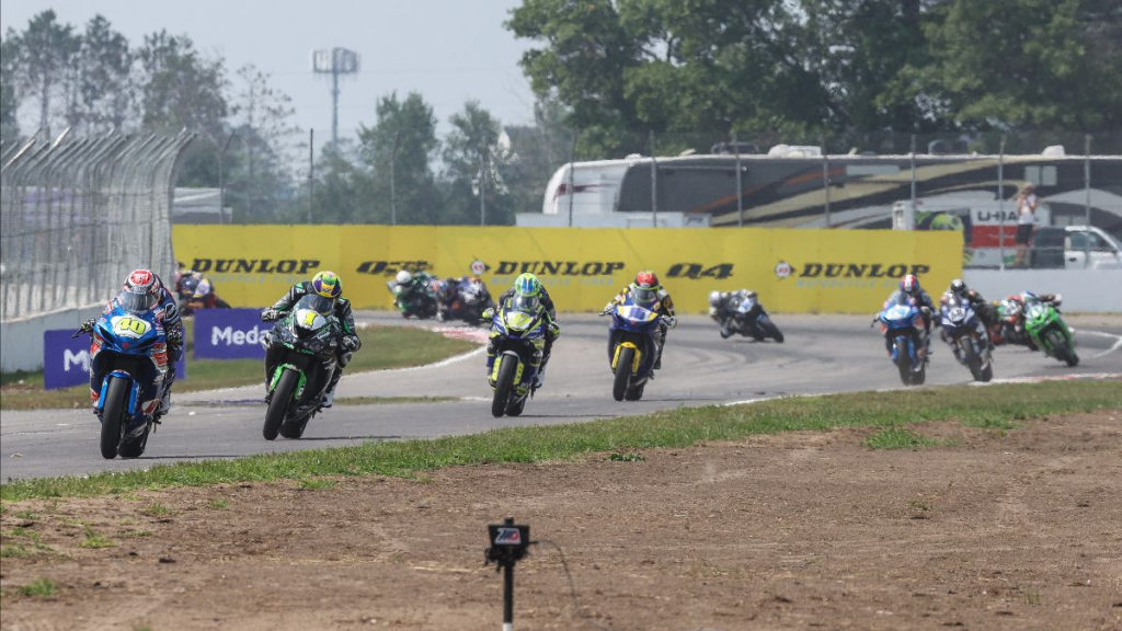
[[[963,252],[960,232],[900,230],[176,226],[173,239],[234,307],[333,269],[360,309],[390,309],[399,269],[462,276],[479,259],[494,295],[531,272],[561,311],[599,310],[653,269],[682,313],[705,311],[714,290],[753,289],[770,311],[872,314],[907,273],[937,299]]]

